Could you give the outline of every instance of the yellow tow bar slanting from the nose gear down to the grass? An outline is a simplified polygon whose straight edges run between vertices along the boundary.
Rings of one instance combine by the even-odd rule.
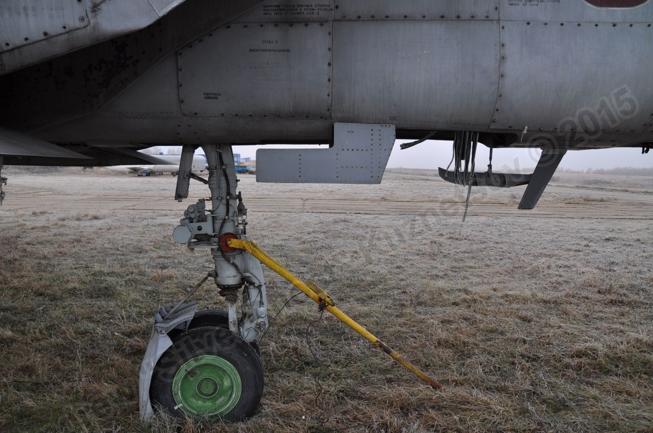
[[[244,239],[229,239],[229,241],[227,241],[227,244],[232,248],[238,248],[240,250],[246,250],[247,252],[249,252],[249,254],[251,254],[259,261],[261,261],[261,263],[263,263],[264,265],[272,269],[272,271],[283,276],[283,278],[285,278],[288,282],[293,284],[293,286],[303,291],[306,296],[313,299],[313,301],[315,301],[318,305],[320,305],[321,308],[326,308],[326,310],[331,314],[333,314],[334,316],[336,316],[338,320],[342,321],[343,323],[345,323],[345,325],[349,326],[358,334],[370,340],[370,342],[372,342],[374,346],[376,346],[380,350],[383,350],[385,353],[393,357],[398,363],[400,363],[401,365],[405,366],[408,370],[413,372],[415,376],[417,376],[421,380],[431,385],[432,388],[434,389],[442,388],[442,385],[440,385],[432,378],[428,377],[428,375],[424,373],[422,370],[420,370],[419,368],[417,368],[417,366],[409,363],[409,361],[406,361],[406,359],[402,358],[402,356],[399,353],[389,348],[387,344],[385,344],[384,342],[376,338],[374,335],[372,335],[372,333],[367,331],[367,329],[365,329],[364,327],[358,325],[358,323],[356,323],[356,321],[354,321],[352,318],[347,316],[347,314],[343,313],[339,308],[336,307],[336,304],[327,295],[327,292],[319,288],[317,284],[315,284],[312,281],[308,281],[308,283],[305,283],[299,278],[297,278],[290,271],[288,271],[288,269],[285,269],[285,267],[279,265],[279,263],[276,260],[268,256],[268,254],[266,254],[263,250],[261,250],[261,248],[259,248],[259,246],[256,245],[253,241],[246,241]]]

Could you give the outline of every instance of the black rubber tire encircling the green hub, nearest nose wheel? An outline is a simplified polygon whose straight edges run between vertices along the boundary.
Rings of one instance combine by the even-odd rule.
[[[263,395],[263,367],[254,349],[240,336],[221,327],[199,327],[176,338],[154,368],[150,398],[174,417],[206,418],[179,407],[172,393],[172,384],[182,365],[202,355],[214,355],[235,367],[242,383],[240,397],[227,413],[208,416],[209,419],[236,422],[251,417]],[[180,373],[185,374],[183,371]],[[193,385],[194,386],[194,385]],[[199,390],[198,385],[198,390]]]

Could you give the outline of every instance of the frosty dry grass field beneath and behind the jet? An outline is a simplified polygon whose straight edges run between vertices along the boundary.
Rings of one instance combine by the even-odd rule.
[[[2,432],[653,431],[652,177],[556,175],[532,213],[514,209],[523,188],[478,188],[462,223],[462,188],[426,170],[364,187],[244,175],[248,234],[445,389],[299,296],[261,344],[253,419],[144,428],[153,312],[211,267],[172,240],[193,200],[170,198],[170,176],[7,175]],[[296,289],[266,278],[274,314]],[[197,299],[221,305],[208,284]]]

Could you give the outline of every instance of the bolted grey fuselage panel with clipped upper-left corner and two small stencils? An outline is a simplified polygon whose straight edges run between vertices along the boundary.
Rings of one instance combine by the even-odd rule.
[[[330,23],[216,29],[178,53],[183,114],[325,119],[331,105],[330,33]]]

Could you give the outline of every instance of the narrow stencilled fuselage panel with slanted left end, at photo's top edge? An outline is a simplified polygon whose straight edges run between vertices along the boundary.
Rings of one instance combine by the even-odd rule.
[[[332,21],[334,0],[319,3],[281,3],[268,0],[232,20],[231,23],[319,22]]]

